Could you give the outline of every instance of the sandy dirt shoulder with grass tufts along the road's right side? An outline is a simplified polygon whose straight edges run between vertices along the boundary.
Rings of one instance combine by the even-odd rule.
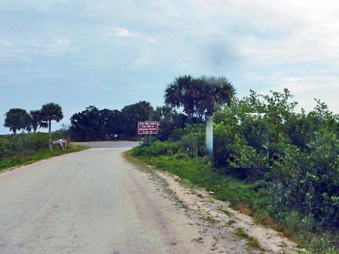
[[[296,244],[273,229],[256,225],[245,214],[232,210],[227,202],[215,200],[213,194],[184,183],[179,176],[143,164],[131,162],[162,181],[162,188],[181,204],[186,217],[199,226],[199,238],[213,253],[299,253]]]

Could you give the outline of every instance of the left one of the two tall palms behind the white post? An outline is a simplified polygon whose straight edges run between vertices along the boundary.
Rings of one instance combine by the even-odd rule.
[[[195,97],[197,95],[194,78],[191,75],[179,76],[165,89],[165,104],[171,107],[182,107],[191,123],[194,115]]]

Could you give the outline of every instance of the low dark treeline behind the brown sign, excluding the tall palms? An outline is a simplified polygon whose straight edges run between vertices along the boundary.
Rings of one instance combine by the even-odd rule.
[[[87,107],[71,116],[69,134],[75,141],[136,140],[138,121],[158,121],[157,139],[166,140],[174,128],[184,128],[187,117],[172,107],[156,107],[138,102],[118,109]]]

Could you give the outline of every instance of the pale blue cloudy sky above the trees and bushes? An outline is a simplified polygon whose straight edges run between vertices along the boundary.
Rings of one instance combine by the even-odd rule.
[[[0,1],[0,134],[11,108],[163,104],[179,75],[222,75],[237,97],[287,87],[339,114],[339,4],[323,0]],[[52,123],[52,129],[61,123]]]

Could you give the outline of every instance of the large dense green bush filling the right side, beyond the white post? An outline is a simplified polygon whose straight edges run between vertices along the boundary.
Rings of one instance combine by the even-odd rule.
[[[287,90],[251,92],[218,111],[215,166],[265,180],[273,217],[297,211],[339,229],[338,116],[319,101],[308,114],[296,113],[290,99]]]

